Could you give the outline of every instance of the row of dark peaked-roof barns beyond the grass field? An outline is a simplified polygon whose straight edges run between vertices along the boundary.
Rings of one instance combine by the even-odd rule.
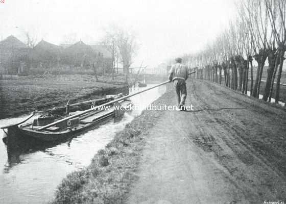
[[[42,71],[62,65],[111,73],[112,53],[105,45],[87,45],[81,40],[60,46],[41,40],[34,48],[12,35],[0,42],[1,73],[16,74],[30,68]]]

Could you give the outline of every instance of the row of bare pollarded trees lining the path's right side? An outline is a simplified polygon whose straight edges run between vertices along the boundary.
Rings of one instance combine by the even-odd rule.
[[[257,98],[268,60],[263,99],[270,101],[276,80],[275,103],[278,103],[286,50],[286,1],[243,0],[237,5],[237,11],[237,18],[213,43],[202,52],[185,55],[183,59],[198,70],[198,78],[221,84],[224,75],[225,86],[245,94],[250,90],[251,96]],[[257,64],[255,75],[253,60]]]

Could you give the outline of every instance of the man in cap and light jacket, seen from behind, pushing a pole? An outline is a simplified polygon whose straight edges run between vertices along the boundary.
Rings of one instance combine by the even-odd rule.
[[[169,72],[169,81],[174,83],[177,99],[178,99],[178,111],[185,110],[185,100],[187,96],[186,80],[188,78],[188,69],[185,65],[182,65],[182,59],[176,58],[176,64],[173,65]]]

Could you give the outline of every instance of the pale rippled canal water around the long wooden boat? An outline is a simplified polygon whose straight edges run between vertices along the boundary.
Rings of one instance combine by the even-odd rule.
[[[150,86],[154,85],[130,88],[129,91],[134,93]],[[160,86],[131,97],[132,103],[141,109],[126,112],[120,119],[111,118],[60,144],[25,144],[24,147],[10,150],[0,141],[0,203],[39,204],[51,201],[56,187],[68,173],[88,166],[99,149],[104,148],[116,133],[141,113],[142,108],[160,97],[165,90],[165,86]],[[0,126],[21,121],[25,117],[27,115],[1,119]],[[4,134],[2,132],[0,136]]]

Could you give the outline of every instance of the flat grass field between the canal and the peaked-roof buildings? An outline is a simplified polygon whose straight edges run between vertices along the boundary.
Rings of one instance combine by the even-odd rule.
[[[51,106],[64,105],[80,99],[100,98],[122,92],[124,76],[93,75],[34,75],[0,80],[0,118],[26,114]]]

